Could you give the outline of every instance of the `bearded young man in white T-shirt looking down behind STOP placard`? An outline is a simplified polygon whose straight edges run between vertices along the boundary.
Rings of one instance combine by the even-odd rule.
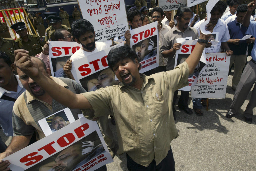
[[[72,23],[71,28],[74,41],[81,44],[82,47],[80,47],[80,49],[78,49],[70,57],[70,61],[66,62],[66,64],[63,67],[63,70],[65,74],[68,76],[68,78],[74,79],[73,74],[71,73],[72,61],[76,61],[78,59],[86,57],[87,55],[91,55],[101,50],[107,49],[109,45],[107,45],[107,43],[104,42],[95,42],[95,32],[93,25],[86,19],[78,19],[74,21]],[[104,140],[106,142],[106,145],[108,146],[108,150],[112,158],[114,158],[115,154],[113,150],[115,147],[115,143],[113,141],[113,134],[107,126],[108,116],[101,117],[99,120],[97,120],[97,122],[101,128],[107,128],[102,129],[101,133],[103,134]]]

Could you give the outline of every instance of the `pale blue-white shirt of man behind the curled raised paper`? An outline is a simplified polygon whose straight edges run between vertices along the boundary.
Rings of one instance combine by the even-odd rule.
[[[204,19],[202,19],[201,21],[199,21],[198,23],[196,23],[194,25],[194,28],[198,31],[198,34],[200,33],[200,25],[203,22],[204,22]],[[219,33],[219,36],[218,36],[219,43],[217,44],[216,52],[220,52],[221,51],[221,48],[220,48],[221,43],[227,42],[230,39],[229,29],[227,27],[226,22],[223,21],[222,19],[218,19],[218,22],[216,23],[215,27],[213,28],[213,32]]]

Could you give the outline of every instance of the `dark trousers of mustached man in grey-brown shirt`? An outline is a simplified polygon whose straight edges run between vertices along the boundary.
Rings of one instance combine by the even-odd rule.
[[[174,109],[175,102],[178,98],[178,91],[176,90],[174,92],[173,101],[172,101],[172,108]],[[189,97],[189,91],[180,91],[180,98],[178,101],[178,107],[181,109],[187,109],[188,108],[188,97]]]

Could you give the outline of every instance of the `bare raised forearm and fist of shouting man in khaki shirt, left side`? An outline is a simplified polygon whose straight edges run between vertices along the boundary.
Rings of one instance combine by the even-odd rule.
[[[58,85],[49,77],[42,74],[28,51],[19,49],[14,51],[14,64],[28,77],[32,78],[42,89],[44,89],[54,100],[70,109],[90,109],[92,106],[82,94],[74,94],[70,90]]]

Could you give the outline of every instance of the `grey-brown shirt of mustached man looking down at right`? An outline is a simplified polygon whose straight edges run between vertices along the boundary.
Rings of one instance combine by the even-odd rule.
[[[188,26],[187,29],[182,32],[177,29],[176,26],[173,26],[173,28],[168,31],[163,38],[162,45],[161,45],[161,53],[165,50],[169,50],[173,47],[174,43],[177,43],[177,38],[185,38],[185,37],[192,37],[193,40],[198,38],[198,33],[195,28]],[[168,63],[166,70],[172,70],[174,69],[174,63],[175,59],[175,54],[171,55],[168,57]]]

